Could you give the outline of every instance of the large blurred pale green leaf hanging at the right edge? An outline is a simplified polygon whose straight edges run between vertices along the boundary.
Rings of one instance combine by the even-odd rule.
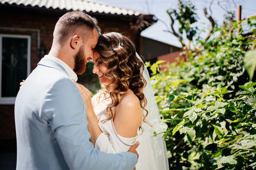
[[[244,57],[244,67],[249,74],[251,81],[256,67],[256,51],[249,51],[246,53]]]

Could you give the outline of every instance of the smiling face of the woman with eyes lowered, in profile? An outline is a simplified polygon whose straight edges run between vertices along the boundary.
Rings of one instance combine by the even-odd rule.
[[[105,73],[108,70],[107,64],[103,63],[100,59],[100,54],[97,51],[93,53],[93,70],[92,73],[95,73],[99,76],[100,85],[107,86],[111,83],[111,80],[106,78]]]

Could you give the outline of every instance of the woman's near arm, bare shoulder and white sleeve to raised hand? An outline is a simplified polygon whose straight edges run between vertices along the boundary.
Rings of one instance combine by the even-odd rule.
[[[138,127],[141,124],[142,116],[141,116],[141,108],[140,102],[136,101],[138,98],[134,99],[132,97],[125,97],[122,99],[122,102],[116,106],[116,115],[120,115],[119,117],[114,118],[113,123],[118,127],[116,132],[127,138],[129,141],[118,141],[118,145],[114,145],[109,140],[109,136],[104,134],[99,128],[99,121],[93,112],[92,102],[91,102],[91,92],[86,89],[83,85],[79,85],[76,83],[79,91],[81,92],[81,96],[84,99],[84,103],[86,104],[86,115],[88,118],[88,131],[91,134],[91,141],[95,145],[95,148],[99,149],[102,152],[106,153],[120,153],[132,152],[131,146],[134,144],[135,139],[131,141],[131,138],[136,136]],[[135,144],[138,145],[138,142]],[[134,145],[133,145],[134,146]],[[130,148],[131,147],[131,148]]]

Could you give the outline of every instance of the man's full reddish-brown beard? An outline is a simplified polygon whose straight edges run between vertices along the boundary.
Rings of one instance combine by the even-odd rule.
[[[85,69],[86,69],[86,60],[84,60],[85,56],[84,56],[84,50],[82,50],[82,48],[79,49],[79,51],[76,54],[76,60],[75,60],[75,68],[74,68],[74,72],[76,74],[83,74]]]

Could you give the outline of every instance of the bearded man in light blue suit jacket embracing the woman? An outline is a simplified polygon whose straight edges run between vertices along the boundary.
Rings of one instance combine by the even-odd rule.
[[[118,154],[93,148],[84,101],[72,81],[84,73],[99,34],[97,21],[83,12],[66,13],[56,23],[49,55],[15,101],[17,169],[134,168],[138,144]]]

